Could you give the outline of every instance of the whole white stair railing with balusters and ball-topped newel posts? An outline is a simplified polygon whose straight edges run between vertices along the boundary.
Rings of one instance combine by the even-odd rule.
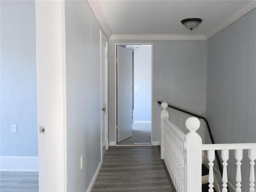
[[[235,150],[236,159],[236,192],[241,192],[241,161],[243,150],[248,150],[250,159],[250,192],[255,192],[254,165],[256,159],[256,143],[232,143],[232,144],[206,144],[202,145],[202,139],[196,130],[200,127],[200,121],[191,117],[186,120],[186,128],[190,131],[184,134],[176,125],[171,123],[169,113],[166,110],[168,104],[161,104],[161,159],[164,160],[174,187],[177,192],[201,192],[202,191],[202,151],[207,151],[209,161],[209,192],[214,188],[214,159],[215,151],[221,150],[223,176],[222,192],[227,192],[227,165],[229,151]],[[246,165],[243,165],[246,166]]]

